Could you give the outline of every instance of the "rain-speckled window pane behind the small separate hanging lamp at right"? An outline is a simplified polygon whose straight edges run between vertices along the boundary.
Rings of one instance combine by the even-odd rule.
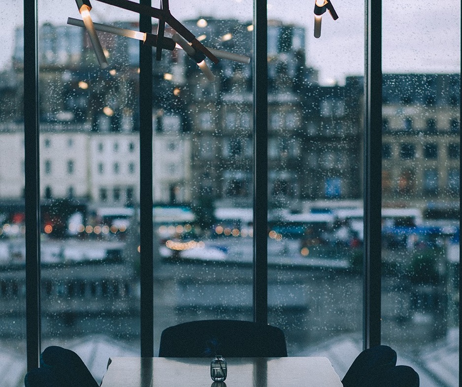
[[[344,375],[362,348],[364,8],[333,5],[319,39],[312,4],[268,5],[268,302],[289,355]]]

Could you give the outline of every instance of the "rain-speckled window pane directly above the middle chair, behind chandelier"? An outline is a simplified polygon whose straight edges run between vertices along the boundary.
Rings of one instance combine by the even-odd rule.
[[[170,10],[205,46],[250,56],[252,3],[231,4],[207,3],[207,18],[199,1]],[[206,59],[210,82],[184,52],[162,55],[153,64],[155,345],[169,325],[253,319],[252,65]]]

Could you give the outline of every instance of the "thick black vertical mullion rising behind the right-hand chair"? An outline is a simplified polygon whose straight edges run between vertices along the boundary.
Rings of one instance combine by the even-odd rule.
[[[382,256],[382,1],[365,1],[363,344],[380,344]]]

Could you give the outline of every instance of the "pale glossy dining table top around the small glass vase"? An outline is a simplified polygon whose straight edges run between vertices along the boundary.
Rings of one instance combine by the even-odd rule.
[[[100,387],[342,387],[322,356],[229,357],[227,377],[214,382],[212,358],[111,357]]]

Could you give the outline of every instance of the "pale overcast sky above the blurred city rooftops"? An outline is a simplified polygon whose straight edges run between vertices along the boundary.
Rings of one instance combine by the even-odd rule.
[[[1,0],[0,21],[4,35],[0,41],[0,68],[9,65],[13,30],[22,25],[23,10],[18,0]],[[217,18],[252,19],[250,0],[170,0],[170,10],[179,20],[199,15]],[[8,6],[9,4],[11,6]],[[52,6],[53,4],[53,6]],[[153,1],[157,6],[157,1]],[[281,20],[306,28],[307,63],[320,72],[322,83],[342,83],[347,75],[363,74],[364,3],[332,0],[339,16],[336,21],[326,13],[321,38],[313,37],[314,0],[268,0],[268,19]],[[95,21],[136,20],[133,12],[120,10],[92,0]],[[461,4],[459,0],[383,1],[384,72],[459,72],[461,63]],[[66,24],[79,17],[74,0],[39,0],[39,21]]]

